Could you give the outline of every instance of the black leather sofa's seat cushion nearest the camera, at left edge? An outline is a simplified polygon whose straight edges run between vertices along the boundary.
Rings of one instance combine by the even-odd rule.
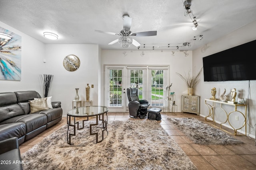
[[[26,134],[26,125],[23,122],[0,124],[0,141],[11,137],[22,137]]]

